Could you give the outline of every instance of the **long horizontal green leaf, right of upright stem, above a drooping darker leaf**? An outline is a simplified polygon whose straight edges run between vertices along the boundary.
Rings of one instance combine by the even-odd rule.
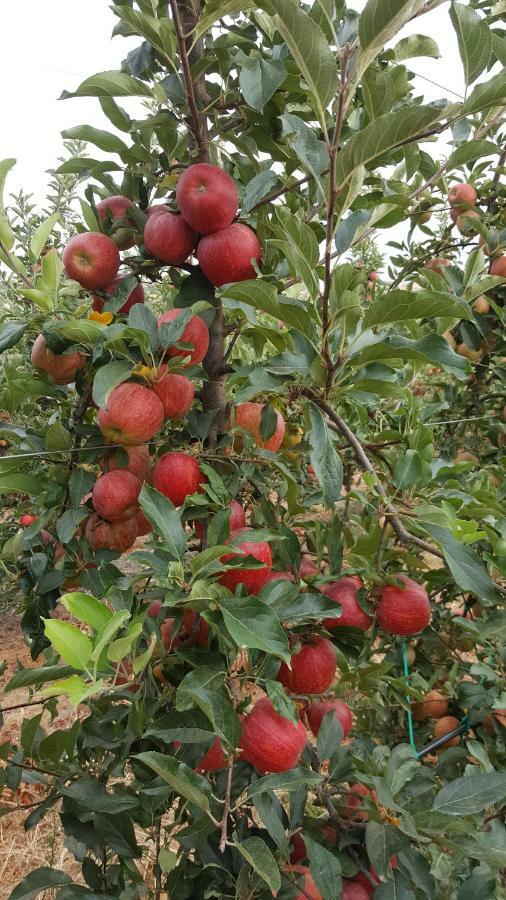
[[[393,322],[410,319],[452,318],[471,320],[473,314],[467,303],[451,294],[441,291],[402,291],[399,289],[383,294],[368,307],[363,319],[363,328],[373,328]]]

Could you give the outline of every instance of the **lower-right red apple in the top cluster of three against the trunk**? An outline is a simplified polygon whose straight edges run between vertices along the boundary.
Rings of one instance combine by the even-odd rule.
[[[255,232],[240,222],[206,235],[197,247],[199,266],[215,287],[256,278],[252,260],[260,265],[261,258],[262,246]]]

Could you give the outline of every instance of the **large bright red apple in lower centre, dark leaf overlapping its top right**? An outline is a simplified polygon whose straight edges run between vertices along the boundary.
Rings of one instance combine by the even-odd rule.
[[[306,745],[302,722],[294,725],[280,716],[268,697],[258,700],[242,723],[242,759],[258,772],[288,772],[299,762]]]

